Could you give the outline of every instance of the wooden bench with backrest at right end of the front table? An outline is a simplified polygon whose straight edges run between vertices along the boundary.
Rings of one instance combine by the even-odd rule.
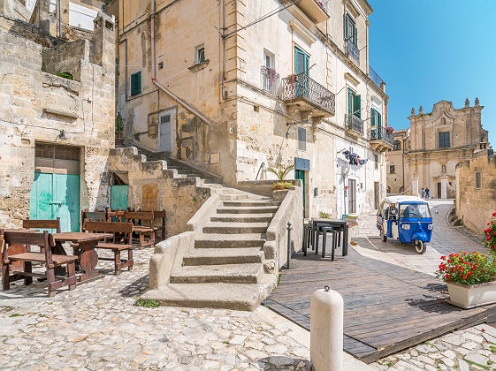
[[[109,242],[99,242],[95,248],[102,248],[106,250],[111,250],[114,253],[112,258],[98,257],[101,261],[114,261],[114,268],[116,276],[120,275],[121,269],[127,268],[127,270],[133,269],[133,223],[112,223],[112,222],[87,222],[86,231],[88,232],[103,232],[103,233],[113,233],[114,238],[111,243]],[[124,243],[119,243],[124,242]],[[120,259],[120,253],[127,250],[127,260]]]

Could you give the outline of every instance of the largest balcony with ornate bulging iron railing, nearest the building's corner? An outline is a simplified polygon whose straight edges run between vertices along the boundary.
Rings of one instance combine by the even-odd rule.
[[[309,119],[313,125],[336,112],[334,93],[305,73],[282,79],[282,99],[290,115],[300,114],[302,120]]]

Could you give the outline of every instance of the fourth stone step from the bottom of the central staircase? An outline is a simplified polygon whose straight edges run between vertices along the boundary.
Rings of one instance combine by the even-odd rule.
[[[265,235],[253,234],[200,234],[195,239],[196,248],[262,247]]]

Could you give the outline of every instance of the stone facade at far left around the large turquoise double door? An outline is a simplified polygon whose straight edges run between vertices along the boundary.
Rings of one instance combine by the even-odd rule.
[[[43,169],[80,175],[75,195],[80,208],[108,205],[115,79],[113,67],[102,62],[114,53],[111,28],[111,19],[100,13],[92,41],[64,42],[0,15],[0,225],[19,226],[30,216],[34,174]],[[57,148],[61,155],[44,158],[38,155],[43,148]]]

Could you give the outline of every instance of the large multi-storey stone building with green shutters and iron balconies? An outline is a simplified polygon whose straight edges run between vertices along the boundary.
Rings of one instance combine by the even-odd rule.
[[[128,143],[229,185],[294,164],[306,216],[360,214],[384,197],[393,140],[367,1],[114,0],[106,11]]]

